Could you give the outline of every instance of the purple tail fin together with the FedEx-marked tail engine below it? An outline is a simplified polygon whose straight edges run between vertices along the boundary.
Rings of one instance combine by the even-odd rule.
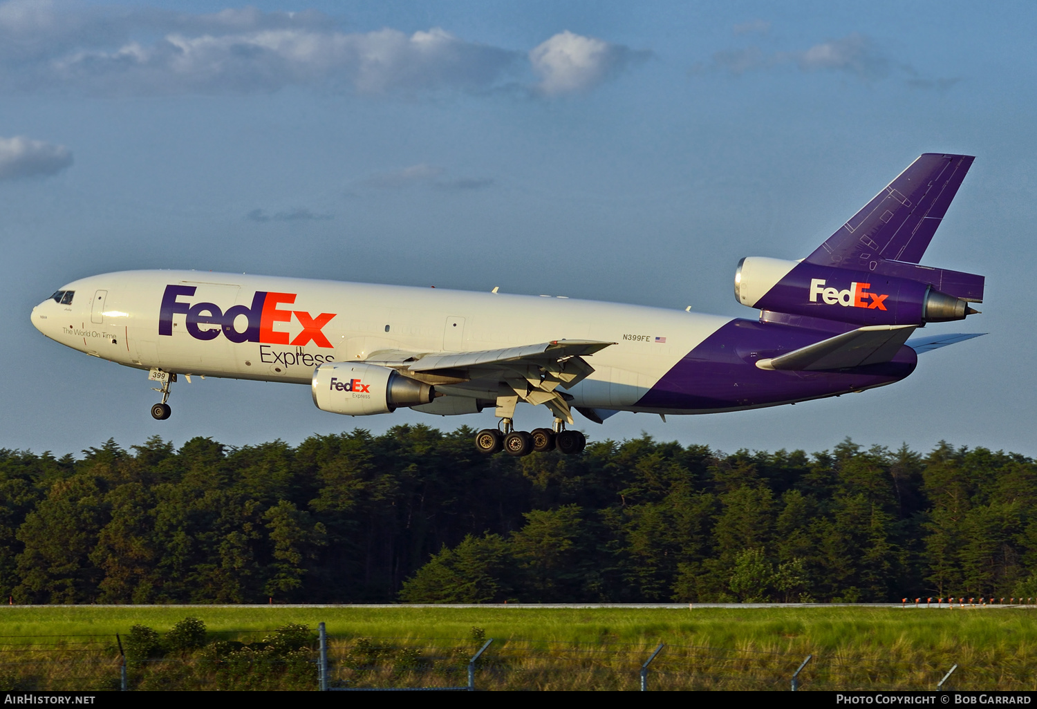
[[[839,323],[917,328],[978,314],[969,304],[983,302],[982,276],[919,264],[973,160],[919,157],[802,261],[741,259],[735,297],[759,308],[763,321],[833,332]]]

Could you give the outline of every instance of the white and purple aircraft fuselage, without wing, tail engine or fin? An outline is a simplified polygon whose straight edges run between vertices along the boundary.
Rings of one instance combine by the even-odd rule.
[[[47,337],[128,367],[180,374],[309,385],[325,362],[362,362],[384,350],[614,342],[588,358],[594,372],[568,391],[574,406],[606,410],[770,406],[891,384],[917,362],[905,346],[891,362],[852,372],[764,371],[757,361],[831,333],[557,296],[195,271],[104,274],[61,290],[75,293],[71,304],[48,299],[32,311]],[[437,391],[475,390],[460,382]]]

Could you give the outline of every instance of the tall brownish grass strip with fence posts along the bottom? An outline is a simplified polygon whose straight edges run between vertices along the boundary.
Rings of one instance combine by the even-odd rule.
[[[489,639],[478,628],[466,639],[414,639],[318,627],[301,647],[279,645],[277,633],[208,633],[202,647],[146,657],[128,653],[124,636],[0,637],[0,690],[1037,689],[1030,662],[949,667],[665,639],[552,643]]]

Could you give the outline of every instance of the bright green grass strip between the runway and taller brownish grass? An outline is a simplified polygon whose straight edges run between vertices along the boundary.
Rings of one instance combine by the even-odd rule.
[[[1037,608],[479,608],[89,605],[0,607],[0,635],[58,636],[127,633],[135,624],[159,632],[186,616],[209,630],[262,631],[286,623],[327,623],[339,636],[466,639],[473,626],[487,637],[559,643],[661,642],[723,648],[758,647],[833,652],[893,647],[930,652],[970,648],[984,656],[1037,648]],[[44,637],[35,642],[45,641]],[[16,641],[17,642],[17,641]]]

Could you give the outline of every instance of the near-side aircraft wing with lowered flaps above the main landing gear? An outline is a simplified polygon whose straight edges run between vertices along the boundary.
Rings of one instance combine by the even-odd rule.
[[[613,344],[597,340],[552,340],[473,352],[381,350],[371,352],[366,362],[392,367],[400,374],[431,385],[487,379],[487,386],[497,390],[503,381],[506,390],[500,392],[498,406],[502,405],[502,399],[505,406],[512,408],[518,399],[534,405],[542,403],[555,416],[572,423],[568,405],[572,397],[556,389],[559,386],[570,389],[593,373],[594,368],[584,358]]]

